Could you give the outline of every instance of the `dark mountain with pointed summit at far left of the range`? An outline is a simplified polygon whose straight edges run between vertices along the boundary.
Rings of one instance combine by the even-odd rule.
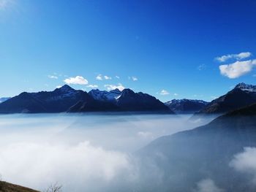
[[[68,85],[54,91],[20,93],[0,104],[1,113],[15,112],[65,112],[80,100],[90,99],[83,91],[76,91]]]

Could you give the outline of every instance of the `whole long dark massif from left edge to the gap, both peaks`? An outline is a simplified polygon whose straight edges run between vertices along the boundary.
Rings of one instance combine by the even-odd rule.
[[[69,85],[54,91],[23,92],[0,104],[0,113],[108,111],[173,113],[161,101],[146,93],[135,93],[130,89],[109,92],[93,90],[87,93]]]

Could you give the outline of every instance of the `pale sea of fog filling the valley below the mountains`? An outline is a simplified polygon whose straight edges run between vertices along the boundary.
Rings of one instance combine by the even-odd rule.
[[[141,177],[132,154],[158,137],[210,120],[189,118],[118,113],[0,115],[0,174],[3,180],[39,191],[54,183],[62,185],[63,191],[143,191],[132,188]]]

